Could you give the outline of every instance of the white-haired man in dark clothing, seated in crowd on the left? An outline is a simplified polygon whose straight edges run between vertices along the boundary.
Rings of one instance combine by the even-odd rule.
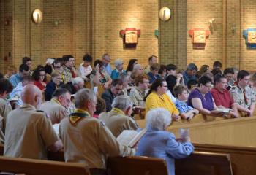
[[[61,85],[61,88],[69,90],[71,94],[75,94],[81,88],[84,88],[84,80],[81,77],[75,77],[72,82],[68,82],[65,85]]]

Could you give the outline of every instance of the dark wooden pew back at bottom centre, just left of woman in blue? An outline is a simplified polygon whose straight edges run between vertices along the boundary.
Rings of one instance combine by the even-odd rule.
[[[108,173],[110,175],[168,174],[165,160],[140,156],[108,158]]]

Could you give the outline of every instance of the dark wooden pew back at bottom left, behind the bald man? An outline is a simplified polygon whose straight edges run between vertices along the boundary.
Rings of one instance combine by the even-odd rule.
[[[0,171],[29,175],[89,175],[82,163],[63,163],[50,160],[7,158],[0,156]]]

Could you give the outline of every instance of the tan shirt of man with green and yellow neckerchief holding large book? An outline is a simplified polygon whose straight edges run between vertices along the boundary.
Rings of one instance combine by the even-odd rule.
[[[74,125],[69,119],[64,118],[60,124],[66,162],[85,163],[86,168],[105,169],[106,155],[135,155],[135,149],[119,144],[98,119],[82,117]]]

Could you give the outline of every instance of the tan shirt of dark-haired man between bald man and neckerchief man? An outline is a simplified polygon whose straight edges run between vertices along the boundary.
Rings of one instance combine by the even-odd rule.
[[[64,106],[62,106],[59,101],[54,98],[42,104],[40,110],[44,111],[45,114],[47,114],[47,117],[50,117],[50,121],[53,125],[60,123],[61,120],[68,115]]]

